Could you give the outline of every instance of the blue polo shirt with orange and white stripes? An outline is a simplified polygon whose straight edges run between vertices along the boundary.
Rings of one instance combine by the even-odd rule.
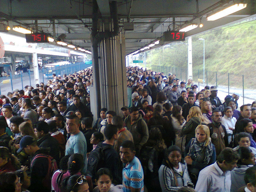
[[[140,188],[144,192],[144,175],[142,165],[137,157],[123,168],[123,192],[131,192],[132,188]]]

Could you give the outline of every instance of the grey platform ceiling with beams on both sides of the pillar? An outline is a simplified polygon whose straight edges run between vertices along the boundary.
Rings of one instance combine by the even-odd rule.
[[[244,0],[247,8],[207,21],[206,15],[234,0],[117,0],[119,26],[132,22],[133,31],[123,31],[126,53],[132,53],[163,35],[168,27],[178,30],[185,23],[203,23],[202,28],[187,32],[194,35],[256,13],[256,0]],[[109,0],[97,0],[102,18],[110,16]],[[0,0],[0,23],[23,25],[55,36],[66,34],[65,40],[91,49],[93,0]],[[174,23],[174,25],[173,25]],[[11,34],[25,36],[9,31]]]

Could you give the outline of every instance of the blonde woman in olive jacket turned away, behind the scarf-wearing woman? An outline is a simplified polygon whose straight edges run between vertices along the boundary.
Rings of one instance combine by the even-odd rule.
[[[211,123],[205,116],[203,116],[199,107],[194,106],[190,108],[188,112],[187,122],[182,127],[180,136],[186,135],[186,143],[185,146],[188,144],[190,139],[195,138],[195,129],[199,124],[209,124]]]

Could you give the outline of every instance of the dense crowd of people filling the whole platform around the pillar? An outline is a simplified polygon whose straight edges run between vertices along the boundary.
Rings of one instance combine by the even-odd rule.
[[[86,69],[0,95],[0,192],[256,192],[256,101],[127,67],[129,107],[93,121],[92,86]]]

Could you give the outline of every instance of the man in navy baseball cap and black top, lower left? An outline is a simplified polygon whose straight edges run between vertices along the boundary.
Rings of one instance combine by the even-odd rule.
[[[26,154],[33,156],[30,165],[30,181],[31,185],[28,188],[31,192],[50,192],[51,191],[51,176],[48,175],[49,158],[46,150],[40,149],[36,140],[31,136],[22,137],[19,143],[18,153],[23,150]],[[49,156],[51,158],[51,156]]]

